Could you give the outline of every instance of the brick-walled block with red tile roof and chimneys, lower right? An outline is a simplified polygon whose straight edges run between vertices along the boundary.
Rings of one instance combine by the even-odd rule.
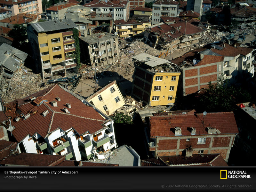
[[[220,154],[228,162],[238,133],[233,112],[148,117],[149,152],[152,156]]]

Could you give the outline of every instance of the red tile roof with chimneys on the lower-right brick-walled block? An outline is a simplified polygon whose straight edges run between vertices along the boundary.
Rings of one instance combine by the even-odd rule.
[[[207,113],[206,116],[203,114],[151,116],[149,122],[151,137],[175,136],[174,127],[180,127],[182,135],[191,135],[187,130],[188,127],[196,128],[196,135],[208,135],[206,131],[208,126],[219,129],[220,134],[238,133],[233,112]]]

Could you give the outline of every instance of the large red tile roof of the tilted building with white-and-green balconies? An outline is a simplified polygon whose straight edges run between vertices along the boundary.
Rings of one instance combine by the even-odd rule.
[[[41,93],[44,92],[41,91]],[[57,101],[56,97],[60,97],[61,101]],[[34,101],[20,105],[15,100],[8,105],[11,109],[6,111],[6,115],[12,116],[12,125],[15,127],[12,134],[19,142],[28,134],[34,135],[36,132],[45,138],[48,133],[59,127],[64,131],[73,127],[79,134],[87,131],[92,134],[103,128],[101,124],[105,122],[105,119],[96,110],[84,105],[81,100],[58,85],[55,85],[35,101],[37,100],[44,100],[44,102],[40,106],[36,106]],[[57,101],[58,107],[52,107],[50,104],[52,101]],[[71,108],[68,108],[70,112],[68,114],[62,111],[63,108],[67,108],[66,103],[71,104]],[[16,105],[18,105],[18,108],[24,115],[30,114],[27,120],[21,118],[18,122],[14,121],[14,118],[19,116],[15,111]],[[42,116],[42,112],[45,110],[48,110],[49,113],[44,117]]]

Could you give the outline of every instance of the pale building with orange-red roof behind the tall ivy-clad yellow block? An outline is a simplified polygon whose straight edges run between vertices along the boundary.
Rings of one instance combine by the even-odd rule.
[[[46,11],[46,20],[59,20],[65,18],[65,12],[67,12],[68,7],[77,5],[76,3],[67,3],[63,5],[51,6]]]

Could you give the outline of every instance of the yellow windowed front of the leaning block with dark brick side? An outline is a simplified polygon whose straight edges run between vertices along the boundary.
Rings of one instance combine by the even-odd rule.
[[[180,73],[156,73],[153,76],[150,105],[170,105],[175,102]]]

